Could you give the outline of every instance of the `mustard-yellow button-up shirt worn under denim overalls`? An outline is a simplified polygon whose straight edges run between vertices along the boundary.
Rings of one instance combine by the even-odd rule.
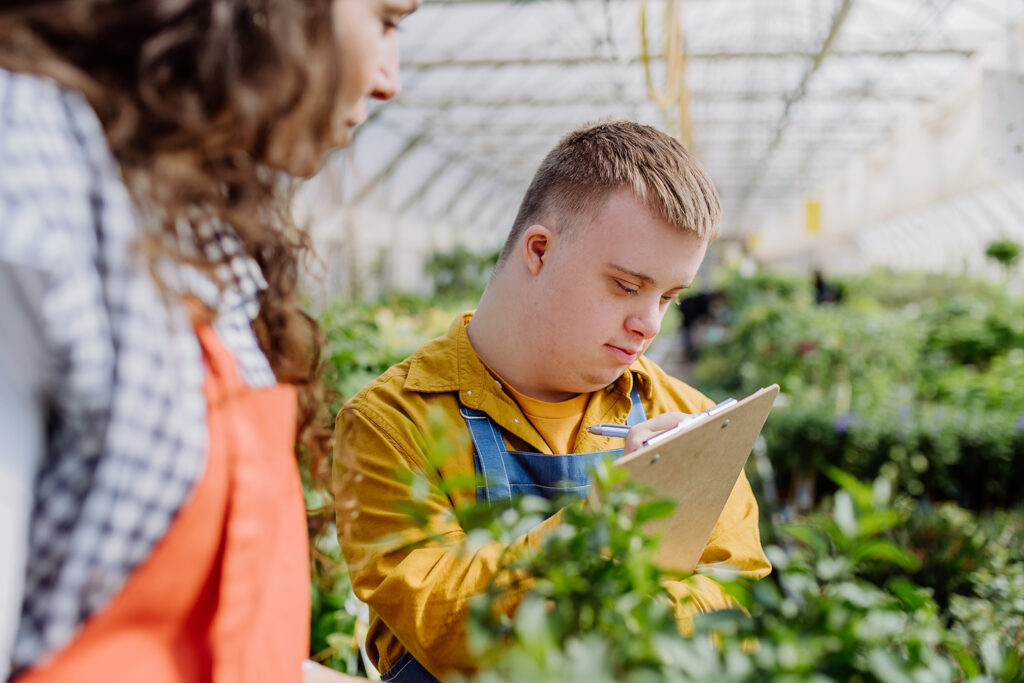
[[[451,485],[474,474],[473,444],[459,414],[460,400],[486,413],[502,429],[510,450],[551,453],[470,345],[466,324],[471,315],[460,315],[445,336],[427,342],[367,385],[338,416],[334,465],[338,538],[353,590],[370,605],[367,649],[382,672],[407,651],[438,678],[451,671],[474,671],[466,649],[469,600],[486,588],[508,547],[492,543],[472,554],[455,548],[465,533],[452,509],[475,496],[471,485]],[[640,357],[613,384],[591,394],[583,424],[625,423],[634,382],[640,383],[649,417],[670,411],[696,413],[713,404]],[[443,443],[432,441],[438,425],[445,434]],[[573,453],[621,444],[581,430]],[[442,452],[446,457],[439,461],[431,455]],[[403,512],[413,500],[411,474],[431,482],[429,531]],[[558,520],[559,515],[551,517],[513,545],[538,545],[545,529]],[[726,564],[759,579],[771,570],[761,548],[757,501],[744,475],[736,481],[701,563]],[[528,588],[528,582],[519,584],[522,591]],[[680,600],[677,620],[684,629],[695,611],[732,604],[718,584],[699,573],[667,582],[666,587]],[[515,604],[513,596],[509,609]]]

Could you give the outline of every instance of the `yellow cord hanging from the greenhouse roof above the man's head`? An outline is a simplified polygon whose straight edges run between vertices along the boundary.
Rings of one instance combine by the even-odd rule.
[[[643,61],[647,94],[662,111],[666,124],[687,147],[693,144],[690,95],[686,87],[686,47],[681,28],[683,0],[665,0],[665,88],[658,91],[650,68],[647,41],[647,0],[640,3],[640,58]]]

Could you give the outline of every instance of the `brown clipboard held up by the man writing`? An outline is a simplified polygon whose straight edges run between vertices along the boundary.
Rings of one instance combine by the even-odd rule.
[[[615,461],[652,492],[651,498],[677,503],[672,516],[646,525],[662,536],[659,565],[696,567],[777,395],[778,385],[772,384]]]

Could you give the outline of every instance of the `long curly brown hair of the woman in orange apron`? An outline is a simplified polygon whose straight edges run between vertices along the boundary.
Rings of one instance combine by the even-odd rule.
[[[299,388],[297,453],[329,477],[323,345],[298,301],[307,232],[273,168],[313,169],[333,146],[339,88],[331,0],[4,0],[0,67],[82,92],[139,207],[155,263],[204,261],[210,221],[230,225],[268,288],[255,331]],[[193,249],[178,240],[190,226]],[[165,293],[173,296],[173,292]],[[210,311],[212,315],[212,311]],[[324,418],[328,418],[325,420]]]

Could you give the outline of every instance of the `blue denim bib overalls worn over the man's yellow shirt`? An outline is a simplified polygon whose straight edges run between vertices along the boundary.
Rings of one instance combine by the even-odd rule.
[[[630,415],[626,424],[633,426],[647,419],[640,401],[637,383],[630,390]],[[487,503],[507,503],[515,496],[540,496],[552,499],[568,494],[584,498],[590,488],[588,468],[596,465],[607,455],[618,458],[622,449],[573,453],[564,456],[549,456],[543,453],[509,451],[501,430],[481,411],[474,411],[460,404],[459,412],[466,420],[469,433],[473,437],[473,465],[476,473],[482,475],[484,483],[476,487],[476,500]],[[382,681],[399,683],[439,683],[412,652],[407,652],[394,663]]]

